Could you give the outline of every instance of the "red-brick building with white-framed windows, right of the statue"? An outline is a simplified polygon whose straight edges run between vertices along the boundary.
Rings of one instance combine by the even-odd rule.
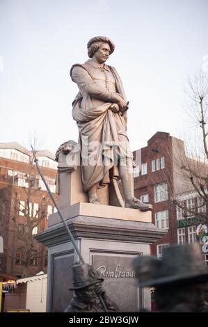
[[[152,222],[167,231],[152,245],[152,254],[160,257],[163,247],[169,244],[199,241],[196,227],[207,221],[207,207],[181,169],[182,162],[189,161],[192,166],[196,163],[187,157],[184,142],[158,131],[146,147],[134,151],[134,160],[137,164],[134,168],[135,195],[153,205]],[[175,205],[173,199],[183,209]],[[191,208],[195,208],[195,214],[188,212]],[[204,213],[204,217],[197,212]],[[208,261],[208,255],[205,260]]]

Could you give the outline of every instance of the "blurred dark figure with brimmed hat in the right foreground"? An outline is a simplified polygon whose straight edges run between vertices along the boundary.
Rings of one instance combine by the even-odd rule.
[[[139,286],[155,287],[159,312],[208,312],[208,269],[198,243],[168,246],[161,260],[137,257],[134,267]]]

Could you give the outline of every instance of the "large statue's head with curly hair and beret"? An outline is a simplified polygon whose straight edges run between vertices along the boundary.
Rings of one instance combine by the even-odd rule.
[[[105,36],[95,36],[88,42],[88,56],[98,63],[104,63],[113,53],[115,45]]]

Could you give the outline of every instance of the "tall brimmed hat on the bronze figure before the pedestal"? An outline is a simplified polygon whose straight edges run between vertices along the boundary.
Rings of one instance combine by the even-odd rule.
[[[70,289],[83,289],[101,282],[102,280],[96,278],[96,274],[95,277],[93,276],[92,271],[93,267],[89,264],[74,262],[72,264],[73,287],[70,287]]]

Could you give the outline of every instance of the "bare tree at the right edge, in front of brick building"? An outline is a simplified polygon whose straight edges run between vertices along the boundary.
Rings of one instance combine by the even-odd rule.
[[[173,166],[184,191],[193,191],[198,202],[193,206],[186,206],[176,196],[171,176],[166,176],[170,184],[170,193],[173,203],[184,210],[186,216],[197,215],[208,218],[205,206],[208,204],[208,146],[207,146],[207,107],[208,107],[208,79],[200,72],[193,79],[189,78],[186,94],[186,113],[191,118],[188,142],[185,148],[177,147],[177,153],[173,154]],[[182,188],[183,189],[183,188]],[[186,191],[185,191],[186,190]],[[183,196],[182,196],[183,198]]]

